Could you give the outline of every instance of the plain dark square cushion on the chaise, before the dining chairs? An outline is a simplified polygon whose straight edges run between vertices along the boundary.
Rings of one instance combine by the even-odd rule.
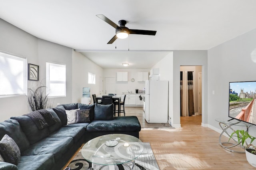
[[[113,103],[111,105],[101,105],[101,104],[95,103],[93,120],[110,121],[113,119],[114,119]]]

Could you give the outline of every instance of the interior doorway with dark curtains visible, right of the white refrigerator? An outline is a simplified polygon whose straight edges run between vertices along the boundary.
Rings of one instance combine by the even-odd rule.
[[[202,115],[202,66],[180,66],[180,77],[180,117],[192,123]]]

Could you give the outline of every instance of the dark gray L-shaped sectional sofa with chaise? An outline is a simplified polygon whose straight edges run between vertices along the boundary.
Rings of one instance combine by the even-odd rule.
[[[73,109],[90,109],[90,122],[67,125],[65,110]],[[40,130],[27,115],[11,117],[0,123],[0,139],[8,134],[18,145],[21,155],[17,165],[0,162],[0,170],[60,170],[83,143],[96,136],[123,133],[139,138],[141,130],[137,117],[106,118],[98,104],[71,103],[46,111],[56,122]],[[99,115],[104,117],[103,120]]]

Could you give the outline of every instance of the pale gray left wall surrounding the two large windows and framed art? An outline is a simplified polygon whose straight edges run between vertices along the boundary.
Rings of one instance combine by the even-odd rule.
[[[70,72],[67,73],[67,96],[51,99],[56,103],[71,103],[72,84],[72,49],[56,43],[38,39],[19,28],[0,19],[0,50],[26,57],[28,63],[39,65],[39,80],[45,82],[45,61],[64,63]],[[28,88],[34,87],[38,81],[28,81]],[[30,107],[26,96],[0,98],[0,121],[11,116],[29,113]]]

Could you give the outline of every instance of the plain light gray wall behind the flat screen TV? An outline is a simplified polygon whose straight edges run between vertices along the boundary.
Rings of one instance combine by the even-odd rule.
[[[230,81],[255,81],[256,29],[208,50],[208,125],[220,129],[217,118],[228,120]],[[212,91],[215,94],[212,94]],[[250,128],[255,132],[256,128]]]

